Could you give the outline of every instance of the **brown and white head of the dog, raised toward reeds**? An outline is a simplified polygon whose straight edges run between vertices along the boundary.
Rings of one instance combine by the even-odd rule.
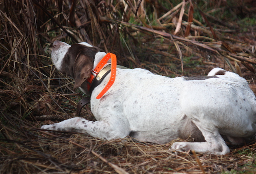
[[[53,42],[52,62],[59,71],[75,79],[74,88],[90,77],[91,70],[104,55],[104,51],[86,42],[73,45],[58,40]]]

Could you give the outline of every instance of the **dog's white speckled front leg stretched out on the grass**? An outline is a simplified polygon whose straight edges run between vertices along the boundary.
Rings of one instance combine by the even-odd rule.
[[[43,125],[41,129],[88,133],[91,136],[106,140],[124,138],[129,135],[129,130],[119,125],[114,125],[107,121],[88,121],[80,117],[67,119],[51,125]]]

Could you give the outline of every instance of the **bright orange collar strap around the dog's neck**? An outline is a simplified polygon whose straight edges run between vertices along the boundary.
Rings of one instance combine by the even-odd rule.
[[[110,70],[110,78],[108,83],[106,84],[106,86],[104,87],[104,89],[99,93],[99,95],[96,97],[97,99],[100,99],[102,97],[102,95],[104,95],[106,93],[106,91],[108,91],[108,89],[113,85],[113,83],[115,82],[115,75],[116,75],[116,71],[117,71],[117,58],[115,56],[115,54],[112,53],[107,53],[98,63],[98,65],[96,66],[96,68],[94,70],[91,71],[91,76],[89,79],[87,79],[88,82],[88,89],[90,91],[93,79],[99,74],[100,70],[102,70],[102,68],[107,64],[108,60],[111,59],[111,70]],[[109,72],[108,72],[109,73]],[[106,74],[106,73],[105,73]],[[102,78],[101,78],[102,79]],[[99,85],[99,84],[98,84]],[[95,86],[96,87],[96,86]],[[91,90],[92,91],[92,90]],[[90,92],[91,92],[90,91]]]

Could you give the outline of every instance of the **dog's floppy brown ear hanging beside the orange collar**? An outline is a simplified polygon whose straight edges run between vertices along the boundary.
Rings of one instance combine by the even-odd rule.
[[[80,87],[82,83],[91,76],[91,70],[93,68],[93,59],[86,55],[78,55],[76,57],[73,71],[74,71],[74,89]]]

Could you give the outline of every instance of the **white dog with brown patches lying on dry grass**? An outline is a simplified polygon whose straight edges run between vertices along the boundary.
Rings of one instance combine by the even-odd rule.
[[[86,42],[53,43],[54,65],[86,94],[90,94],[87,79],[105,55]],[[104,67],[110,63],[107,60]],[[247,81],[233,72],[214,68],[208,76],[169,78],[141,68],[116,68],[113,85],[97,99],[110,77],[107,74],[91,91],[97,121],[75,117],[41,128],[105,140],[130,136],[157,144],[191,139],[174,142],[170,150],[215,155],[230,153],[225,141],[241,144],[256,134],[256,97]]]

